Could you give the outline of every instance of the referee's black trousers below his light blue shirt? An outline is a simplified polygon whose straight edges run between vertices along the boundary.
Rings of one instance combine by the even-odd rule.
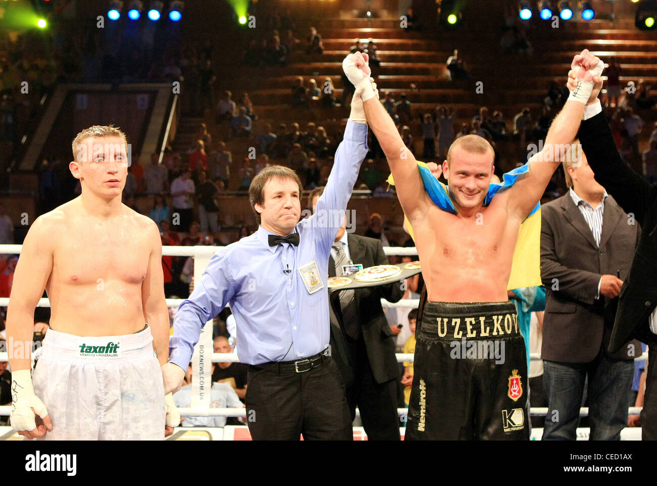
[[[344,383],[330,359],[306,372],[249,366],[246,418],[254,441],[353,439]]]

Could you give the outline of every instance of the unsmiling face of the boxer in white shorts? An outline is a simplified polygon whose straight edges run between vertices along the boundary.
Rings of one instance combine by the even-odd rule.
[[[120,137],[89,137],[76,148],[69,164],[82,191],[104,199],[121,197],[127,177],[127,144]]]

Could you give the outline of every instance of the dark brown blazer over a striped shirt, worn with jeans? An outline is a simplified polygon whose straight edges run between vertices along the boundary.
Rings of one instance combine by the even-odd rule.
[[[541,279],[546,288],[541,357],[561,363],[589,363],[608,346],[618,298],[595,299],[602,274],[621,279],[629,272],[638,225],[612,196],[604,202],[600,246],[570,193],[541,206]],[[629,250],[628,250],[629,249]],[[634,359],[639,342],[612,355]]]

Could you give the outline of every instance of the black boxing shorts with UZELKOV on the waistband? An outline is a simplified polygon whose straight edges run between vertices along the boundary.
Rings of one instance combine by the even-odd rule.
[[[510,301],[426,302],[407,440],[528,440],[527,361]]]

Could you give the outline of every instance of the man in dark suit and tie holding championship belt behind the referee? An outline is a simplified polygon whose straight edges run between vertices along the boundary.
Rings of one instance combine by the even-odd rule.
[[[314,210],[324,188],[310,193],[309,209]],[[340,276],[342,265],[388,265],[380,240],[346,232],[346,218],[336,234],[328,261],[328,276]],[[370,440],[399,440],[395,337],[381,307],[381,298],[397,302],[403,296],[401,284],[335,292],[331,298],[332,355],[340,366],[347,389],[351,420],[361,412]],[[339,322],[335,325],[335,322]]]

